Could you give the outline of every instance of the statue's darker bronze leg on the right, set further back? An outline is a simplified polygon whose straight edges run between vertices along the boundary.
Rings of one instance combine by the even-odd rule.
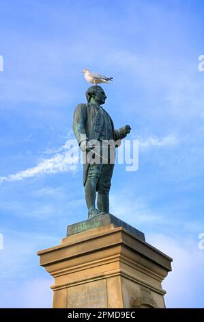
[[[98,179],[97,206],[99,212],[109,212],[109,191],[111,188],[111,178],[113,175],[114,164],[103,164],[100,177]]]

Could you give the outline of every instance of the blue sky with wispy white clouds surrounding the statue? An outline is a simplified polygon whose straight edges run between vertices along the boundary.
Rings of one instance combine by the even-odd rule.
[[[87,67],[114,77],[104,108],[139,139],[139,170],[115,166],[111,213],[173,257],[166,306],[202,308],[203,1],[3,0],[0,14],[0,307],[52,306],[35,253],[87,218],[65,159]]]

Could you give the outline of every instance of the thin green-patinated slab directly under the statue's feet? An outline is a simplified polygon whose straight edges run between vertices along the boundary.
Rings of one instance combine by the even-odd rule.
[[[121,221],[116,216],[113,216],[113,214],[99,214],[98,216],[94,216],[91,219],[87,219],[79,223],[74,223],[73,225],[68,225],[67,236],[85,232],[86,230],[92,228],[109,225],[111,223],[113,223],[115,227],[123,227],[125,230],[130,232],[130,234],[141,238],[142,240],[145,240],[145,234],[143,234],[143,232],[136,230],[136,228],[128,225],[128,223],[126,223],[125,221]]]

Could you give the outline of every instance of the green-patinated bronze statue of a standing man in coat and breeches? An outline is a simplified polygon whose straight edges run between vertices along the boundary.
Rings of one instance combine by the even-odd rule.
[[[109,212],[109,191],[115,163],[111,152],[115,152],[121,139],[130,133],[130,126],[114,129],[111,116],[101,106],[106,101],[102,87],[89,87],[86,97],[87,104],[78,104],[74,110],[73,129],[78,145],[86,156],[83,164],[83,185],[88,218],[91,218]]]

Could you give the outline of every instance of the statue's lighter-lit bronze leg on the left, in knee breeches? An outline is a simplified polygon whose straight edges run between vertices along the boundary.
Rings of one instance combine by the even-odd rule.
[[[85,199],[87,203],[88,218],[96,216],[98,210],[96,209],[96,184],[100,177],[102,164],[90,164],[87,174],[87,181],[85,184]]]

